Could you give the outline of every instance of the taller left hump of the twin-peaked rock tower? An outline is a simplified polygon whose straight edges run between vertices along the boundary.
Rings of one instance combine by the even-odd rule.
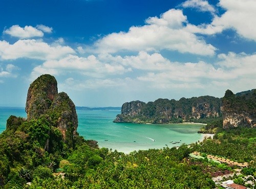
[[[28,121],[36,120],[41,114],[46,113],[57,93],[57,81],[51,75],[42,75],[31,83],[25,108]]]

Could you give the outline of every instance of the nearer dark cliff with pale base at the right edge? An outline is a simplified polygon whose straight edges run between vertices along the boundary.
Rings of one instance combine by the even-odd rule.
[[[223,127],[256,127],[256,89],[237,95],[227,90],[223,97]]]

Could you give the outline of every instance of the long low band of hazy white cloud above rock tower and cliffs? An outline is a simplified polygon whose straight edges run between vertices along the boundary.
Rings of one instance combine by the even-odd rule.
[[[241,87],[242,79],[255,80],[255,55],[220,54],[218,63],[205,61],[171,62],[159,53],[139,52],[136,56],[111,54],[78,57],[70,55],[54,61],[46,61],[34,68],[32,77],[45,73],[65,76],[73,73],[80,80],[68,78],[62,85],[82,90],[84,88],[127,87],[131,83],[138,88],[161,89],[211,89],[223,90]],[[128,74],[125,77],[125,74]],[[239,86],[238,86],[239,85]],[[253,86],[251,86],[253,87]]]

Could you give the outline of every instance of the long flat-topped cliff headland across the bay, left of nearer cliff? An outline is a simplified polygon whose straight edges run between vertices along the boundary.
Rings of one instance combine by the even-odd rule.
[[[181,98],[179,101],[158,99],[148,103],[132,101],[122,105],[121,114],[117,115],[114,122],[180,123],[220,117],[220,107],[221,99],[210,96]]]

